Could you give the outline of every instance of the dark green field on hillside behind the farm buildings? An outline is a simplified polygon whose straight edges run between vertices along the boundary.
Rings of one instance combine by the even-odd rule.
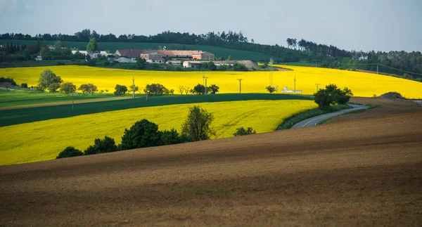
[[[10,40],[10,39],[0,39],[0,44],[37,44],[35,40]],[[44,44],[53,45],[54,41],[43,41]],[[79,41],[63,41],[63,46],[68,46],[70,48],[84,48],[87,47],[88,42],[79,42]],[[116,49],[157,49],[158,46],[166,46],[167,49],[172,48],[174,44],[154,44],[154,43],[121,43],[121,42],[98,42],[98,48],[101,50],[110,51],[110,53],[115,53]],[[224,57],[227,58],[229,55],[234,60],[269,60],[269,58],[274,58],[278,60],[279,58],[275,56],[270,56],[265,53],[259,53],[254,51],[241,51],[231,48],[223,48],[217,46],[203,46],[203,45],[185,45],[186,48],[192,50],[201,50],[209,51],[215,54],[216,58]]]

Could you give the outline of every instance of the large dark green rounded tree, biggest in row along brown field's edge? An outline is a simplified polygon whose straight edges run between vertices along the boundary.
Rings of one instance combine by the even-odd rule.
[[[147,119],[135,122],[130,129],[124,129],[122,143],[119,150],[129,150],[134,148],[147,148],[161,143],[161,132],[158,125]]]

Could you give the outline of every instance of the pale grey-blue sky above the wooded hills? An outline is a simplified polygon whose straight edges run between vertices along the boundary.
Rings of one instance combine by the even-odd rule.
[[[422,51],[421,0],[0,0],[0,33],[242,31],[260,44],[307,39],[357,51]]]

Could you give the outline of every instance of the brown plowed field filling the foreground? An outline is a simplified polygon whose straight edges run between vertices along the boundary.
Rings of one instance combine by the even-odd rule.
[[[422,108],[383,102],[320,127],[0,167],[0,226],[421,226]]]

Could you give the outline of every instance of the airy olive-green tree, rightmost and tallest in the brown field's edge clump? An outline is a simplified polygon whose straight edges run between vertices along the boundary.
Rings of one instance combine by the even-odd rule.
[[[210,138],[213,131],[210,127],[214,116],[198,105],[189,108],[188,116],[181,125],[181,134],[189,141],[203,141]]]

